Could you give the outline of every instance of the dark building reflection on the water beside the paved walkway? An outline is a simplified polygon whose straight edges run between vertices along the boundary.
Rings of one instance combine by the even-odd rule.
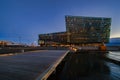
[[[110,69],[94,53],[70,54],[57,80],[111,80]]]

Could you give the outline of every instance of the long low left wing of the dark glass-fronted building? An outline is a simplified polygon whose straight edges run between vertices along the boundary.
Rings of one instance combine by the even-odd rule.
[[[67,34],[66,32],[56,32],[48,34],[39,35],[39,44],[54,44],[54,43],[67,43]]]

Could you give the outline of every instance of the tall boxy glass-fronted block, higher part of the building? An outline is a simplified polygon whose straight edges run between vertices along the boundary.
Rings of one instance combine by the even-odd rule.
[[[111,18],[65,16],[68,43],[109,42]]]

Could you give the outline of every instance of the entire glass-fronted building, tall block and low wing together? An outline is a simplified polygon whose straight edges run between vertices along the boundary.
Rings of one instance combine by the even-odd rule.
[[[65,16],[66,32],[39,34],[39,45],[108,43],[111,18]]]

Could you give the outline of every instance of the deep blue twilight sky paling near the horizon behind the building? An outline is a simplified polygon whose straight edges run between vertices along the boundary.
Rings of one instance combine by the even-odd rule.
[[[0,0],[0,40],[37,42],[65,31],[65,15],[110,17],[110,37],[120,37],[120,0]]]

